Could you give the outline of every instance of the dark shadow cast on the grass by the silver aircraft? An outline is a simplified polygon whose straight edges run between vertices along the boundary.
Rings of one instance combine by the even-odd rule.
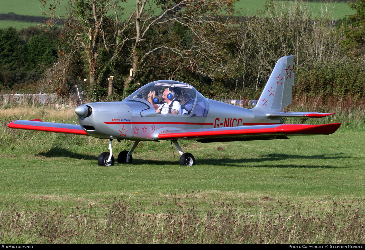
[[[97,159],[94,155],[88,154],[79,154],[73,151],[70,151],[67,148],[53,147],[49,151],[39,152],[37,155],[42,155],[44,157],[69,157],[76,159],[85,159],[85,160],[95,160]],[[286,154],[268,154],[262,155],[261,158],[241,158],[241,159],[231,159],[231,158],[210,158],[204,160],[197,160],[197,164],[213,164],[216,166],[230,166],[230,167],[293,167],[293,168],[337,168],[334,166],[328,165],[297,165],[297,164],[263,164],[263,165],[251,165],[250,163],[254,162],[267,162],[267,161],[280,161],[286,159],[318,159],[318,160],[327,160],[327,159],[350,159],[351,156],[341,156],[341,154],[337,155],[286,155]],[[158,159],[135,159],[133,160],[134,165],[145,165],[145,164],[153,164],[153,165],[176,165],[178,164],[178,156],[176,156],[177,160],[169,161],[169,160],[158,160]],[[245,164],[246,163],[246,164]],[[249,164],[249,165],[248,165]],[[116,165],[118,166],[118,165]]]

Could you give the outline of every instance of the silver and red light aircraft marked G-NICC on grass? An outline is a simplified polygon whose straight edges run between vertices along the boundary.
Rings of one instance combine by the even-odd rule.
[[[120,102],[87,103],[76,107],[80,125],[20,120],[9,128],[93,136],[109,140],[109,152],[99,166],[112,166],[112,140],[132,140],[118,163],[132,162],[140,141],[171,141],[180,153],[180,165],[192,166],[195,158],[183,152],[180,140],[201,143],[288,139],[291,136],[328,135],[341,123],[323,125],[284,124],[283,117],[319,118],[334,113],[283,112],[292,102],[293,56],[281,57],[253,109],[205,98],[183,82],[158,80],[142,86]]]

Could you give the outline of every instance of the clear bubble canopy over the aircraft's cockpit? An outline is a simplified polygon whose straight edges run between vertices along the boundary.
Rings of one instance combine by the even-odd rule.
[[[183,115],[207,116],[209,110],[208,99],[201,95],[193,86],[183,82],[171,80],[154,81],[142,86],[123,101],[138,101],[138,99],[142,99],[148,102],[148,94],[154,93],[155,103],[161,105],[164,103],[161,95],[166,88],[173,90],[174,99],[180,103]]]

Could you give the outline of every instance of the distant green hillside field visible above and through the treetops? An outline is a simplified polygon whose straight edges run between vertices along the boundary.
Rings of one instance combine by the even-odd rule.
[[[324,7],[324,2],[310,2],[308,3],[307,10],[312,13],[312,16],[320,16],[320,10]],[[282,1],[277,1],[277,3],[282,3]],[[241,0],[235,4],[235,10],[239,11],[242,15],[254,15],[256,11],[265,4],[265,0]],[[127,13],[130,13],[135,5],[135,1],[127,1],[127,3],[122,3],[122,7]],[[329,6],[335,6],[334,8],[334,19],[344,18],[346,15],[354,14],[355,11],[351,10],[347,3],[331,3]],[[1,13],[15,12],[18,15],[33,15],[41,16],[42,11],[47,12],[47,8],[43,8],[38,0],[14,0],[14,1],[1,1]],[[63,11],[63,6],[61,7]],[[62,11],[58,13],[62,13]],[[332,15],[331,15],[332,16]],[[5,21],[0,20],[0,28],[8,28],[10,26],[16,27],[17,29],[22,29],[24,27],[38,25],[35,23],[17,22],[17,21]]]

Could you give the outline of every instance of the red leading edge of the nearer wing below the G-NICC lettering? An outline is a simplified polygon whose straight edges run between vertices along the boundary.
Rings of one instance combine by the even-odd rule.
[[[201,137],[229,137],[240,135],[267,135],[267,134],[331,134],[334,133],[341,123],[323,124],[323,125],[305,125],[305,124],[283,124],[273,128],[254,128],[254,129],[213,129],[201,130],[197,132],[188,132],[184,130],[181,133],[160,133],[158,137],[161,140],[171,140],[179,138],[201,138]]]

